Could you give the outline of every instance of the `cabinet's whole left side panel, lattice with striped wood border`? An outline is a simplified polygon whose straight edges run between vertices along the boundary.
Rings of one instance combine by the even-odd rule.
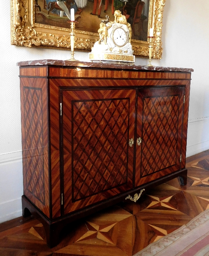
[[[47,80],[21,78],[24,195],[49,217]]]

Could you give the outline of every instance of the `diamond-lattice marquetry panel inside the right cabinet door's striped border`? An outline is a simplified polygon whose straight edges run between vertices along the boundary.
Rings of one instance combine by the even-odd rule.
[[[176,164],[179,96],[144,98],[141,177]]]

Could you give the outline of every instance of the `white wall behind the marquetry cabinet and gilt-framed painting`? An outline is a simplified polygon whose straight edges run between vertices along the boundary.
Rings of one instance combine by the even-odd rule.
[[[69,51],[10,45],[10,1],[0,15],[0,222],[21,215],[22,152],[18,61],[67,59]],[[163,15],[163,56],[156,66],[193,68],[189,105],[187,156],[209,148],[209,1],[167,0]],[[76,59],[88,60],[76,52]],[[137,58],[136,64],[146,65]]]

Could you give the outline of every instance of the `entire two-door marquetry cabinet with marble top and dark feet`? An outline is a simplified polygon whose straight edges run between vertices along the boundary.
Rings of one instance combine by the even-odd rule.
[[[185,168],[192,69],[25,61],[20,66],[23,215],[54,247],[64,225]],[[137,195],[136,195],[137,194]]]

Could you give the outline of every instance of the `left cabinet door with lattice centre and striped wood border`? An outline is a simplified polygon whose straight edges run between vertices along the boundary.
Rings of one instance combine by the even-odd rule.
[[[62,90],[64,214],[133,187],[136,90]]]

